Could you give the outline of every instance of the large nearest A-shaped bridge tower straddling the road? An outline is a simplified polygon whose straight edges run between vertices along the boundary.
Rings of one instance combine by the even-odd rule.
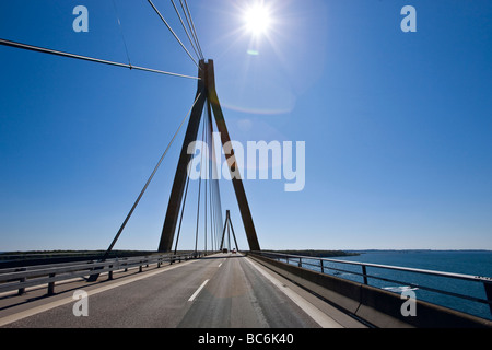
[[[231,138],[227,127],[225,125],[222,107],[219,102],[219,97],[215,91],[215,77],[213,60],[209,60],[207,63],[204,60],[200,61],[199,69],[199,83],[197,89],[197,103],[191,112],[188,129],[186,131],[185,141],[183,143],[179,162],[176,170],[176,175],[171,191],[169,202],[167,206],[167,212],[164,220],[164,225],[161,235],[161,242],[159,244],[159,252],[167,253],[172,250],[174,235],[176,231],[176,224],[179,215],[179,208],[183,200],[183,194],[187,180],[188,163],[191,160],[191,154],[188,154],[188,145],[197,140],[197,133],[203,113],[203,106],[206,100],[210,102],[215,118],[215,124],[219,132],[221,133],[222,148],[226,154],[226,162],[231,172],[232,183],[239,207],[241,215],[243,219],[244,229],[249,244],[250,250],[260,250],[258,237],[256,234],[255,224],[253,222],[251,212],[249,209],[246,192],[244,190],[243,179],[237,176],[238,170],[236,168],[236,158],[234,150],[226,149],[231,144]]]

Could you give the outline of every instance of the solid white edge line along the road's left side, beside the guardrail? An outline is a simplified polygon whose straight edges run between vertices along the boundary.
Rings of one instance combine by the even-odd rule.
[[[87,295],[89,296],[90,295],[95,295],[95,294],[98,294],[101,292],[105,292],[105,291],[112,290],[114,288],[118,288],[118,287],[121,287],[121,285],[125,285],[125,284],[128,284],[128,283],[141,280],[141,279],[144,279],[144,278],[149,278],[149,277],[162,273],[162,272],[174,270],[174,269],[176,269],[178,267],[186,266],[186,265],[189,265],[189,264],[192,264],[192,262],[196,262],[196,261],[198,261],[198,260],[190,260],[190,261],[186,261],[186,262],[181,262],[181,264],[177,264],[177,265],[172,265],[172,266],[168,266],[168,267],[165,267],[165,268],[161,268],[161,269],[159,269],[156,271],[144,272],[143,275],[139,275],[139,276],[136,276],[136,277],[124,278],[124,280],[118,281],[118,282],[114,282],[114,283],[112,283],[109,285],[101,287],[101,288],[97,288],[97,289],[94,289],[94,290],[89,290],[87,291]],[[48,304],[45,304],[45,305],[40,305],[40,306],[37,306],[37,307],[33,307],[33,308],[30,308],[30,310],[26,310],[26,311],[13,314],[13,315],[9,315],[9,316],[5,316],[5,317],[2,317],[2,318],[0,318],[0,327],[4,326],[4,325],[8,325],[8,324],[11,324],[13,322],[20,320],[22,318],[30,317],[30,316],[43,313],[45,311],[48,311],[48,310],[51,310],[51,308],[55,308],[55,307],[58,307],[58,306],[62,306],[62,305],[66,305],[66,304],[69,304],[69,303],[73,303],[73,302],[74,301],[72,299],[72,295],[70,295],[69,298],[66,298],[66,299],[61,299],[61,300],[58,300],[58,301],[55,301],[55,302],[51,302],[51,303],[48,303]]]

